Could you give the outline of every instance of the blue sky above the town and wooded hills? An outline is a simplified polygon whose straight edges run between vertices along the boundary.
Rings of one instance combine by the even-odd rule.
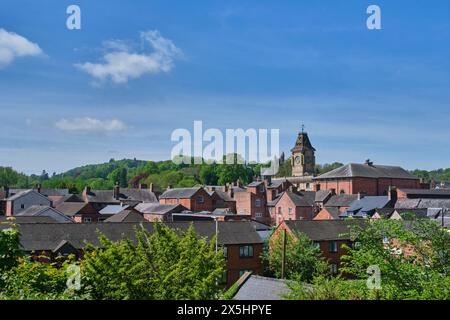
[[[81,30],[66,28],[71,4]],[[382,30],[366,28],[370,4]],[[304,123],[318,163],[448,167],[448,12],[448,1],[2,0],[0,165],[168,159],[171,132],[202,120],[279,128],[286,152]]]

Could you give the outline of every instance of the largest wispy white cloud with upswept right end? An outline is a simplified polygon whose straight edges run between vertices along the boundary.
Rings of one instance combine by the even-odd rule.
[[[75,66],[96,80],[111,79],[114,83],[126,83],[147,73],[170,72],[174,60],[182,56],[181,50],[156,30],[141,32],[141,41],[153,51],[135,52],[126,42],[112,40],[105,43],[109,52],[104,54],[102,63],[86,62]]]

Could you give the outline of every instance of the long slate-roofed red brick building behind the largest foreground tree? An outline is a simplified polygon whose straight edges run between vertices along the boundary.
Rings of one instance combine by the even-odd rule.
[[[208,239],[216,235],[216,224],[212,221],[173,222],[166,225],[175,230],[187,230],[192,225],[200,237]],[[18,226],[24,251],[34,257],[48,257],[50,261],[59,255],[74,254],[81,257],[86,243],[100,245],[98,232],[111,241],[123,238],[134,241],[137,226],[143,226],[150,233],[154,231],[154,223],[151,222],[20,223]],[[253,224],[248,221],[230,221],[219,222],[217,226],[218,245],[224,248],[226,256],[223,284],[230,287],[246,271],[262,275],[260,255],[263,241]],[[0,230],[6,228],[9,228],[8,224],[0,224]]]

